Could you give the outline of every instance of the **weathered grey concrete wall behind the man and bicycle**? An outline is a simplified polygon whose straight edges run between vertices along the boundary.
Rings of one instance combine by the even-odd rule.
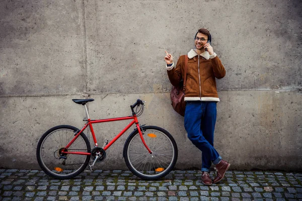
[[[91,97],[91,118],[130,115],[176,139],[176,168],[200,168],[201,153],[170,105],[165,50],[175,60],[205,27],[226,69],[215,147],[233,169],[302,169],[299,0],[0,2],[0,167],[39,168],[36,146],[50,127],[82,127],[72,98]],[[127,124],[97,125],[99,144]],[[132,129],[131,129],[132,130]],[[126,169],[122,136],[98,168]]]

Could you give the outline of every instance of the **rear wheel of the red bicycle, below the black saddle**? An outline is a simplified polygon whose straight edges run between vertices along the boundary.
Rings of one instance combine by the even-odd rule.
[[[60,125],[46,131],[37,146],[37,160],[41,169],[56,179],[70,179],[79,175],[87,167],[90,155],[67,154],[66,159],[59,158],[59,150],[64,148],[79,129]],[[87,136],[81,133],[71,144],[68,151],[91,152]]]

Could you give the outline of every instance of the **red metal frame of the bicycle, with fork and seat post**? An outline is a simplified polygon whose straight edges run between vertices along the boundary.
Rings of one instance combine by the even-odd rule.
[[[91,133],[92,133],[92,137],[93,137],[93,141],[96,147],[98,147],[98,142],[95,136],[95,132],[93,130],[93,124],[98,124],[98,123],[104,123],[104,122],[114,122],[114,121],[123,121],[123,120],[132,120],[130,122],[130,124],[128,124],[128,126],[126,126],[117,136],[115,136],[105,147],[104,150],[106,151],[117,139],[119,139],[133,124],[136,124],[136,128],[138,130],[140,139],[143,143],[143,145],[146,147],[146,149],[148,150],[148,152],[150,154],[152,154],[152,151],[149,149],[149,147],[147,146],[147,144],[145,143],[143,137],[142,137],[142,133],[139,127],[139,123],[137,120],[137,117],[135,114],[132,114],[132,116],[128,116],[128,117],[119,117],[119,118],[111,118],[111,119],[100,119],[100,120],[91,120],[88,114],[88,110],[87,110],[87,106],[84,105],[85,107],[85,111],[86,111],[86,115],[87,115],[87,123],[84,125],[84,127],[78,131],[74,133],[74,138],[66,145],[64,150],[67,150],[70,145],[77,140],[77,138],[79,137],[79,135],[89,126]],[[62,154],[79,154],[79,155],[91,155],[91,153],[87,153],[87,152],[69,152],[69,151],[64,151],[62,150]]]

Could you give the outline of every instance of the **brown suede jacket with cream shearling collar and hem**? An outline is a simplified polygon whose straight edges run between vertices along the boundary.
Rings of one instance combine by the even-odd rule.
[[[184,76],[185,55],[179,57],[176,67],[167,66],[172,85],[176,86]],[[193,49],[188,53],[185,101],[201,100],[219,102],[215,77],[224,77],[225,69],[216,53],[203,52],[198,55]]]

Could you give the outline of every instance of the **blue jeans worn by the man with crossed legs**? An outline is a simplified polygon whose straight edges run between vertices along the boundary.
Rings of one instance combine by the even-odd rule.
[[[188,101],[185,111],[185,129],[188,138],[202,151],[201,171],[210,172],[213,164],[221,160],[214,149],[214,129],[216,123],[216,102]]]

